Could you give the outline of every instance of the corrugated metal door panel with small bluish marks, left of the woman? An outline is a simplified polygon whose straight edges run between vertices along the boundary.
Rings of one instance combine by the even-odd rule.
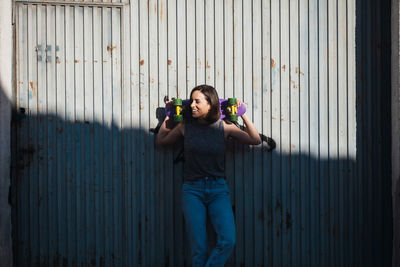
[[[16,11],[16,265],[120,265],[122,5]]]

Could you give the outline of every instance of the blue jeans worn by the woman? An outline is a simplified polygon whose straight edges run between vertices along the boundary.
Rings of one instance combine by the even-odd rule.
[[[204,178],[185,182],[182,206],[193,267],[224,266],[235,245],[235,221],[225,179]],[[217,245],[210,256],[207,249],[207,211],[217,234]]]

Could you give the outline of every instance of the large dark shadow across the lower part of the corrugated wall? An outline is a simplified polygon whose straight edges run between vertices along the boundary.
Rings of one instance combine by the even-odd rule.
[[[179,146],[155,148],[147,129],[13,110],[15,266],[190,266]],[[357,161],[232,142],[227,175],[229,266],[390,265],[390,188]]]

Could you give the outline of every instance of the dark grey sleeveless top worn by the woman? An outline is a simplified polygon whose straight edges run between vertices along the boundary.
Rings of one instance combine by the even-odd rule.
[[[196,119],[186,120],[184,153],[185,181],[195,181],[204,177],[225,177],[225,138],[222,120],[212,124],[201,124]]]

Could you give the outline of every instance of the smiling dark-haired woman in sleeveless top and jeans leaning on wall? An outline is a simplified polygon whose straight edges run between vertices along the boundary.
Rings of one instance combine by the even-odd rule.
[[[235,244],[235,222],[225,181],[225,141],[233,137],[244,144],[261,143],[246,114],[242,119],[247,131],[242,131],[219,119],[219,105],[217,91],[212,86],[195,87],[190,93],[193,119],[170,130],[166,117],[156,140],[157,144],[165,145],[184,138],[182,203],[193,267],[224,266]],[[217,245],[211,255],[207,249],[207,213],[217,234]]]

